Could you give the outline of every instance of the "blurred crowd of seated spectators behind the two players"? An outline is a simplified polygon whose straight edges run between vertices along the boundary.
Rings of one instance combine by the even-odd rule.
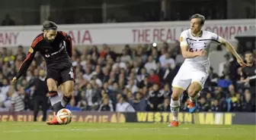
[[[95,45],[82,51],[73,48],[75,92],[69,110],[170,111],[171,82],[184,61],[178,42],[176,45],[164,43],[162,47],[139,45],[136,48],[125,45],[121,53],[108,45],[101,51]],[[18,52],[8,48],[0,51],[0,111],[33,110],[34,89],[27,85],[35,77],[43,76],[39,73],[45,70],[46,64],[37,53],[25,76],[11,85],[12,77],[26,58],[23,49],[18,46]],[[241,67],[229,54],[225,57],[222,75],[214,73],[211,67],[198,98],[198,111],[255,111],[248,87],[238,80]],[[187,111],[187,103],[184,92],[181,110]]]

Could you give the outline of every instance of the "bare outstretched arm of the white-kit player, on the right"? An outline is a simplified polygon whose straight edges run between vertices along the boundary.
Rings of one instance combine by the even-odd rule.
[[[240,55],[235,51],[235,48],[225,39],[221,40],[221,44],[226,46],[226,48],[229,50],[229,52],[235,56],[236,60],[238,61],[238,64],[240,64],[242,67],[248,66],[245,64],[245,62],[242,60]]]

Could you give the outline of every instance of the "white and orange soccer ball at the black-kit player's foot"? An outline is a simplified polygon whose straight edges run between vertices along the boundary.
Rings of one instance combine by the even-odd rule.
[[[63,108],[58,111],[56,117],[60,124],[69,124],[72,120],[72,113],[70,110]]]

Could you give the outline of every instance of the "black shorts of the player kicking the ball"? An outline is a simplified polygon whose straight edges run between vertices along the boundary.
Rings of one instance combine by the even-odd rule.
[[[52,78],[58,82],[58,86],[66,81],[75,82],[75,70],[73,67],[66,69],[55,69],[53,67],[47,67],[46,79]]]

